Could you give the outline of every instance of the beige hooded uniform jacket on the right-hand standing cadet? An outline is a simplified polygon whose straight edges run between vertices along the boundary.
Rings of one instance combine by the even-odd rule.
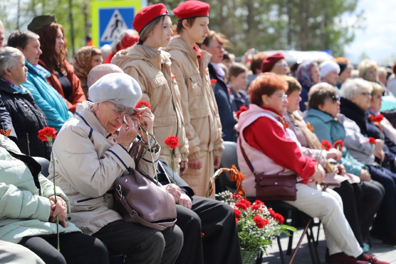
[[[207,68],[211,54],[200,50],[198,61],[196,51],[180,38],[174,38],[165,50],[171,54],[171,69],[180,90],[189,160],[197,159],[199,151],[221,156],[221,123]]]

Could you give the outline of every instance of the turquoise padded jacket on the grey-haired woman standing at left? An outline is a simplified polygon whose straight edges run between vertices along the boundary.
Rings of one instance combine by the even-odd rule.
[[[22,86],[32,93],[37,105],[46,115],[49,126],[59,131],[73,114],[67,109],[62,96],[47,82],[49,71],[40,65],[33,66],[27,60],[25,64],[28,68],[27,81]]]

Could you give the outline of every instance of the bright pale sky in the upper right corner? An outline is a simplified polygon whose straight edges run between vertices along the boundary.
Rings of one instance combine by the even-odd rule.
[[[396,59],[396,0],[359,0],[356,11],[364,10],[363,30],[355,31],[354,41],[345,47],[345,56],[353,63],[364,52],[379,64],[393,64]],[[348,16],[344,16],[348,22]]]

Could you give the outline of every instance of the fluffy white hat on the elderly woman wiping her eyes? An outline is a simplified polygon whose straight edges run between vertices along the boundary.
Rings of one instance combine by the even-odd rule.
[[[101,77],[89,88],[94,103],[110,101],[135,108],[142,98],[142,89],[138,82],[125,73],[109,73]]]

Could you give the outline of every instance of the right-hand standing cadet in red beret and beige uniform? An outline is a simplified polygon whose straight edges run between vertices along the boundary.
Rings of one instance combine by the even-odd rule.
[[[171,54],[189,140],[189,168],[183,179],[198,196],[205,195],[223,151],[221,123],[207,68],[211,54],[197,46],[209,32],[209,7],[208,3],[189,0],[173,9],[180,37],[165,49]]]

